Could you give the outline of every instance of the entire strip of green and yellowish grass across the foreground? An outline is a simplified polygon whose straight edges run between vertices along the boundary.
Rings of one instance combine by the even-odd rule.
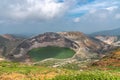
[[[120,80],[120,72],[67,70],[0,62],[0,80]]]

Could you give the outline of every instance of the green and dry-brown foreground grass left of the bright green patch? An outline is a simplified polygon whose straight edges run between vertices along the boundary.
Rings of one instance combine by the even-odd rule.
[[[28,65],[16,62],[0,62],[0,80],[45,80],[69,70]]]

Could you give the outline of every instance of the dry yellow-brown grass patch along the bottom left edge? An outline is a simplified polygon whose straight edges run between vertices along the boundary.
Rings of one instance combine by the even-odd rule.
[[[54,78],[57,75],[56,72],[48,73],[4,73],[0,75],[0,80],[45,80]]]

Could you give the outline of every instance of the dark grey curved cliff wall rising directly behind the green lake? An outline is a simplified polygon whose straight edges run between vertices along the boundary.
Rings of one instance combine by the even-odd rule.
[[[27,59],[28,51],[47,46],[67,47],[75,51],[79,48],[79,45],[74,41],[60,36],[57,33],[49,32],[24,40],[11,52],[9,57],[16,60],[25,60]]]

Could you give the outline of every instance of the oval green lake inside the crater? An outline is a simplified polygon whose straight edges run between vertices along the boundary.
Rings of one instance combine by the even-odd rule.
[[[71,58],[75,54],[75,52],[70,48],[48,46],[32,49],[31,51],[28,52],[28,54],[34,61],[40,61],[47,58],[56,59]]]

